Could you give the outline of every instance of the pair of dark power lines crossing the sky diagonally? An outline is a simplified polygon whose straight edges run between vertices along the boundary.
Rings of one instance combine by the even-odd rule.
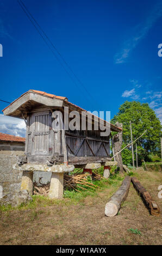
[[[20,5],[20,7],[22,8],[22,10],[24,11],[24,13],[27,15],[28,19],[30,20],[30,22],[32,22],[33,26],[36,28],[36,30],[38,31],[38,33],[40,34],[40,36],[42,37],[42,39],[46,42],[47,46],[49,47],[49,49],[52,51],[52,53],[54,54],[55,58],[57,58],[58,62],[61,64],[61,66],[64,68],[64,70],[66,71],[66,73],[68,74],[68,76],[70,76],[71,80],[73,81],[73,83],[78,87],[78,84],[73,80],[73,78],[71,77],[70,73],[65,69],[64,65],[60,62],[60,59],[57,57],[57,55],[53,52],[53,50],[51,49],[51,47],[48,45],[46,39],[43,37],[43,35],[45,35],[45,37],[47,38],[47,40],[49,41],[49,43],[52,45],[52,47],[54,48],[54,50],[59,54],[59,56],[61,57],[61,59],[63,60],[63,62],[66,64],[66,66],[68,67],[68,69],[72,72],[72,74],[74,75],[74,77],[78,80],[78,82],[81,84],[81,86],[86,90],[86,92],[89,94],[89,96],[92,98],[92,100],[94,100],[94,98],[92,97],[92,95],[88,92],[88,90],[84,87],[84,84],[79,80],[79,78],[77,77],[76,74],[74,74],[73,70],[71,69],[70,65],[68,65],[68,63],[66,62],[66,60],[64,59],[64,57],[61,55],[61,53],[57,50],[57,48],[54,46],[54,44],[52,43],[52,41],[48,38],[47,34],[43,31],[43,29],[40,27],[39,23],[34,19],[34,17],[32,16],[32,14],[29,12],[29,10],[27,9],[26,5],[20,0],[18,1],[18,4]],[[22,6],[23,5],[23,6]],[[25,10],[25,9],[27,10]],[[28,12],[28,13],[27,13]],[[30,15],[30,16],[29,16]],[[36,23],[36,25],[39,27],[39,29],[41,30],[41,32],[43,33],[43,35],[40,33],[39,29],[35,26],[34,22],[32,19],[30,19],[30,17],[32,17],[32,19],[34,20],[34,22]],[[80,89],[80,88],[79,88]]]

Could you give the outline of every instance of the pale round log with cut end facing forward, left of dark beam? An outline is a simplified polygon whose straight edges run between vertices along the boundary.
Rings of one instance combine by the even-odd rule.
[[[121,187],[110,198],[109,202],[105,205],[105,215],[113,217],[120,209],[121,203],[126,200],[129,192],[130,176],[126,176],[123,180]]]

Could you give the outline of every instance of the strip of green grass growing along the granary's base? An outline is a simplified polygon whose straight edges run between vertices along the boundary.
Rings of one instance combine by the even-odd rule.
[[[73,172],[71,172],[71,174],[73,173],[78,173],[78,170],[80,169],[74,169]],[[83,171],[83,170],[82,170]],[[98,173],[100,173],[101,175],[103,175],[103,167],[98,169]],[[91,197],[97,197],[98,192],[101,192],[104,190],[104,188],[106,187],[112,187],[112,188],[116,188],[117,186],[119,186],[121,184],[121,181],[124,179],[124,175],[120,175],[119,172],[115,173],[114,172],[114,168],[113,170],[111,170],[110,172],[110,177],[109,179],[101,179],[101,180],[94,180],[92,181],[94,185],[96,185],[97,187],[95,189],[91,188],[91,187],[87,187],[84,185],[80,185],[79,186],[86,188],[86,190],[88,191],[83,191],[81,188],[77,187],[77,190],[80,192],[77,192],[73,189],[66,189],[64,190],[64,199],[63,200],[57,200],[57,199],[49,199],[48,197],[43,197],[43,196],[32,196],[32,202],[29,202],[28,204],[21,204],[17,207],[13,207],[11,205],[7,205],[7,206],[0,206],[0,211],[13,211],[13,210],[28,210],[28,209],[36,209],[38,208],[38,206],[43,206],[43,207],[47,207],[47,206],[51,206],[51,205],[71,205],[71,204],[83,204],[83,200],[84,198],[91,196]],[[87,179],[89,182],[91,182],[91,179],[88,177]],[[114,192],[113,189],[113,192]]]

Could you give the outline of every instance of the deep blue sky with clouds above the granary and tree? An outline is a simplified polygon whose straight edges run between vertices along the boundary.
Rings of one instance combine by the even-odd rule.
[[[162,120],[162,1],[23,3],[89,93],[73,83],[17,1],[2,0],[1,100],[11,102],[36,89],[67,96],[89,111],[111,111],[111,118],[125,100],[139,100]],[[1,109],[7,105],[0,101]],[[2,113],[0,131],[24,136],[24,121]]]

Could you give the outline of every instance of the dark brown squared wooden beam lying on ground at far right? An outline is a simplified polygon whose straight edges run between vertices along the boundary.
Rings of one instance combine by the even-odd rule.
[[[136,191],[140,194],[144,204],[148,208],[151,215],[159,216],[160,215],[160,209],[159,206],[154,202],[154,200],[151,197],[151,194],[149,194],[148,191],[146,191],[145,187],[143,187],[139,180],[136,177],[132,177],[131,181],[133,183],[133,186],[135,187]]]

